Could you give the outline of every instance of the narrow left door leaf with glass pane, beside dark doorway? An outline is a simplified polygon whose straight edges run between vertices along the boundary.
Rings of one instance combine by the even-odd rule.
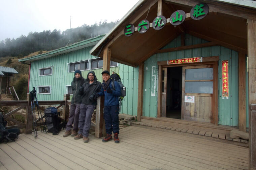
[[[167,88],[167,68],[162,69],[162,114],[166,117],[166,88]]]

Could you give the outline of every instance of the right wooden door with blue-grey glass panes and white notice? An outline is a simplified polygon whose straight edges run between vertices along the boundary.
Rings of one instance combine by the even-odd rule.
[[[184,66],[182,70],[182,119],[214,123],[213,64]]]

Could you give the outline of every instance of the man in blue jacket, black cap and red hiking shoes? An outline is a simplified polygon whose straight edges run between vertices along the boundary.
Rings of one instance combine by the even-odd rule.
[[[112,131],[114,133],[115,143],[119,143],[119,97],[121,96],[121,88],[117,81],[114,81],[115,90],[112,87],[110,74],[107,70],[102,73],[102,88],[99,93],[95,95],[105,96],[104,99],[104,120],[107,136],[102,139],[102,142],[107,142],[108,140],[112,140]]]

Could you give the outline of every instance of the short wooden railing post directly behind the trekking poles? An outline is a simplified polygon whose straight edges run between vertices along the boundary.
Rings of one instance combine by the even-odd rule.
[[[33,117],[32,117],[32,108],[31,108],[31,98],[29,93],[27,93],[27,109],[26,109],[26,117],[25,117],[25,134],[32,133],[33,126]]]

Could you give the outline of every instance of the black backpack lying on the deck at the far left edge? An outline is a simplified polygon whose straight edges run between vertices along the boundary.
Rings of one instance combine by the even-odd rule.
[[[20,134],[19,128],[6,129],[7,121],[4,120],[3,114],[0,112],[0,143],[2,141],[14,141]]]

